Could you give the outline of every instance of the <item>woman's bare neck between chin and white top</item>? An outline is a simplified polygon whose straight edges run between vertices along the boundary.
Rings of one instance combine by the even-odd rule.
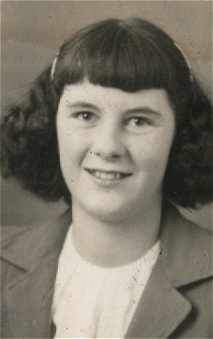
[[[143,256],[157,241],[161,203],[144,208],[139,215],[111,222],[95,218],[73,201],[73,241],[78,253],[100,266],[121,266]]]

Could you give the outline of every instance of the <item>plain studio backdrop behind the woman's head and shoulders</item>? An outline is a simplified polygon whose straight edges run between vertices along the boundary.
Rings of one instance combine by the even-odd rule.
[[[28,90],[73,32],[110,17],[147,19],[182,47],[209,96],[212,91],[211,1],[2,1],[1,112]],[[31,224],[64,211],[63,201],[45,203],[14,180],[1,182],[3,225]],[[211,205],[182,209],[190,219],[211,228]]]

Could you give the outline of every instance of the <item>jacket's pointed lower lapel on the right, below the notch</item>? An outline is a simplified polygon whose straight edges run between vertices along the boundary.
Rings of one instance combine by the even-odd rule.
[[[171,285],[157,265],[125,337],[167,338],[190,310],[190,303]]]

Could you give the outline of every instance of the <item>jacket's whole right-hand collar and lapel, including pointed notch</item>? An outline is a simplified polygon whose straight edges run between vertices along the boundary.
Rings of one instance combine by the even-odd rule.
[[[211,237],[173,207],[166,209],[161,253],[126,338],[168,338],[192,309],[177,288],[212,275]]]

